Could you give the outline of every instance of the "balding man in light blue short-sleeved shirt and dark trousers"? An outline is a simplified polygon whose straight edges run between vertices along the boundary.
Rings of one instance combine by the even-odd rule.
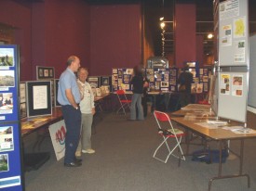
[[[78,167],[82,165],[82,160],[75,158],[81,129],[81,111],[79,108],[81,96],[74,72],[79,67],[80,59],[75,56],[69,57],[67,60],[67,69],[61,73],[58,88],[58,101],[61,104],[62,114],[66,124],[65,167]]]

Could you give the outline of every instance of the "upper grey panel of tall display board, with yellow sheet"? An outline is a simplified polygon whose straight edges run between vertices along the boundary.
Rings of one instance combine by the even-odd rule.
[[[219,5],[219,66],[249,65],[248,0]]]

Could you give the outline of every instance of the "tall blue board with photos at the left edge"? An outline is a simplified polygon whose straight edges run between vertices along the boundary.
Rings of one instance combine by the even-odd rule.
[[[17,45],[0,45],[0,190],[24,190]]]

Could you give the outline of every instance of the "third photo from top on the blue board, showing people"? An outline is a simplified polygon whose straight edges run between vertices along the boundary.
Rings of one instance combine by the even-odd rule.
[[[12,93],[0,94],[0,114],[9,114],[13,112]]]

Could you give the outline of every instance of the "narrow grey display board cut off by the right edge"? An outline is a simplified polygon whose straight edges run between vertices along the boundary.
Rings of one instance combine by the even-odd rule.
[[[249,110],[256,112],[256,35],[249,37]]]

